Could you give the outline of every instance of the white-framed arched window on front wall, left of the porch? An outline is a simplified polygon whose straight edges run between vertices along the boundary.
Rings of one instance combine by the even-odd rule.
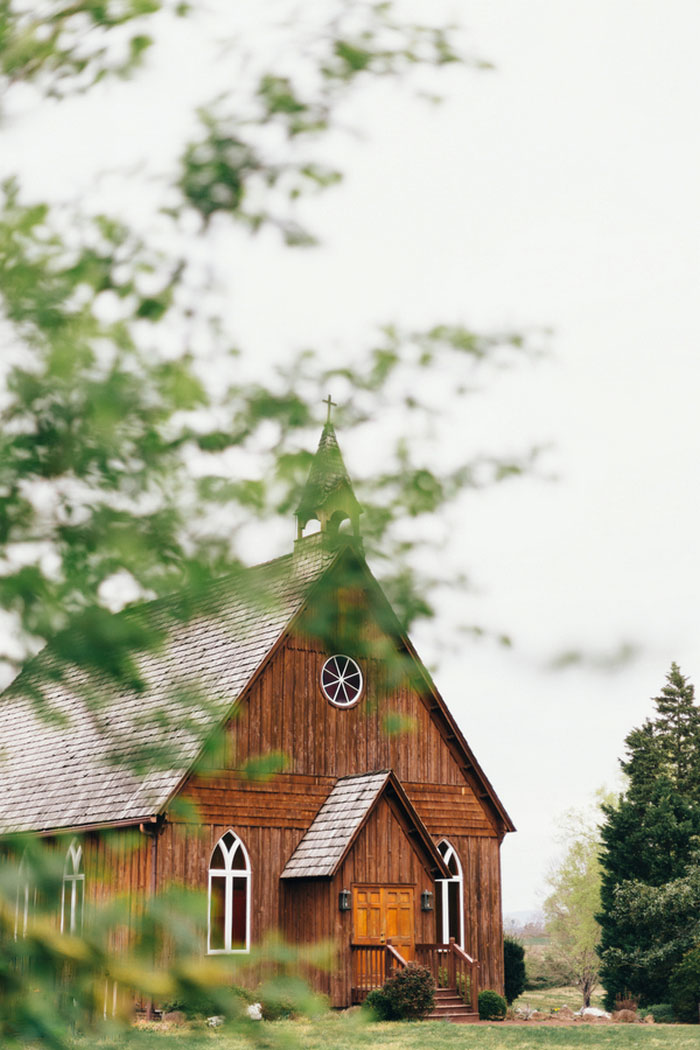
[[[251,864],[237,835],[221,836],[209,863],[207,950],[249,951],[251,944]]]

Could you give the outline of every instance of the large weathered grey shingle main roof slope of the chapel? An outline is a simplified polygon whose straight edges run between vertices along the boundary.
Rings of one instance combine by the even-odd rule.
[[[168,598],[151,603],[149,623],[161,623],[165,642],[137,657],[144,691],[119,691],[77,666],[51,681],[47,647],[27,671],[60,721],[42,717],[23,691],[27,672],[0,697],[0,833],[160,813],[332,561],[305,544],[213,584],[186,620]]]

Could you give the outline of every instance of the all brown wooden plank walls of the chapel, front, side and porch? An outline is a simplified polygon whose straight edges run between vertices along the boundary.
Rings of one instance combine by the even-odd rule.
[[[375,634],[379,632],[375,630]],[[500,842],[503,824],[474,791],[460,764],[454,740],[434,699],[408,679],[391,689],[381,664],[363,660],[365,693],[352,709],[327,702],[319,687],[327,652],[309,635],[288,636],[251,685],[224,734],[215,769],[189,778],[181,794],[196,815],[173,806],[157,837],[157,879],[203,891],[206,933],[207,873],[212,850],[229,828],[251,859],[251,931],[258,942],[282,929],[299,944],[335,938],[340,950],[333,975],[317,986],[335,1005],[349,996],[352,912],[338,910],[340,888],[354,883],[409,884],[434,888],[429,875],[382,801],[334,880],[281,883],[279,875],[338,777],[393,769],[436,841],[458,852],[465,888],[465,947],[481,963],[480,984],[503,988]],[[412,721],[412,731],[388,735],[387,713]],[[285,773],[268,782],[241,776],[247,759],[270,751],[289,759]],[[129,892],[133,907],[151,890],[151,838],[135,831],[93,836],[85,846],[86,904]],[[434,914],[416,916],[418,940],[436,938]],[[203,941],[204,949],[204,941]]]

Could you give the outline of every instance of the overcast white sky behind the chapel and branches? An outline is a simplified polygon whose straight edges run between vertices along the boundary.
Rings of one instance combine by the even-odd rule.
[[[243,8],[252,28],[263,7]],[[314,213],[322,249],[211,250],[230,267],[241,343],[271,360],[306,343],[340,354],[389,319],[553,330],[552,356],[486,385],[450,436],[475,452],[551,444],[558,479],[465,501],[450,556],[481,589],[441,623],[516,642],[459,643],[437,675],[518,827],[503,853],[512,912],[542,900],[557,814],[615,784],[671,662],[698,672],[700,6],[453,10],[496,70],[451,78],[439,108],[388,87],[358,102],[346,184]],[[83,195],[96,171],[172,155],[210,76],[184,25],[137,85],[18,116],[0,167],[21,167],[35,193]],[[341,444],[361,472],[363,449]],[[429,663],[431,637],[416,636]],[[563,649],[604,657],[622,643],[638,655],[614,672],[547,670]]]

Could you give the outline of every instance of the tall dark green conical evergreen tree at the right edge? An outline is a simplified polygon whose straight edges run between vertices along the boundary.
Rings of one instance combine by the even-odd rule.
[[[599,951],[609,1008],[625,993],[642,1003],[667,999],[669,967],[653,964],[663,924],[629,921],[623,902],[633,887],[638,896],[684,879],[700,836],[700,710],[677,664],[654,704],[656,717],[625,738],[628,788],[602,806]]]

